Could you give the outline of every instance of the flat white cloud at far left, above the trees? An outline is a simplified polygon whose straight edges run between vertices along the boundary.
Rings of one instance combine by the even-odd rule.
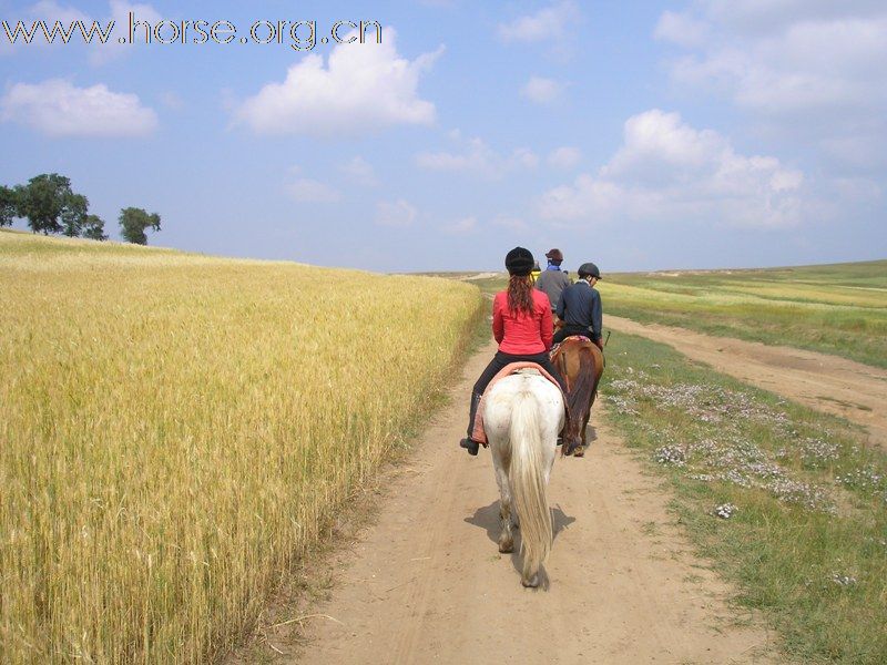
[[[154,111],[134,94],[104,84],[75,88],[61,79],[16,83],[0,99],[0,119],[50,136],[136,136],[157,126]]]

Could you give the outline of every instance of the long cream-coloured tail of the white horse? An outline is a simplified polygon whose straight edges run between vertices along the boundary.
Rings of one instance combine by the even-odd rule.
[[[546,495],[540,407],[530,390],[521,390],[511,412],[511,493],[520,518],[523,580],[529,580],[551,551],[551,511]]]

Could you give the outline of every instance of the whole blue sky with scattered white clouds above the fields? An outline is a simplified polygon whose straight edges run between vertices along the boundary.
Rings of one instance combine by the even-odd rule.
[[[887,257],[880,1],[182,4],[0,0],[11,24],[116,18],[112,41],[130,12],[237,29],[0,31],[0,183],[68,175],[113,238],[136,206],[153,245],[381,272],[518,244],[604,273]],[[381,44],[329,40],[360,20]],[[241,44],[258,21],[317,43]]]

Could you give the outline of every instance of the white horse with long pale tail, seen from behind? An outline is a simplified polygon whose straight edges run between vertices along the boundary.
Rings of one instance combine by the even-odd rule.
[[[561,391],[536,370],[519,370],[500,379],[483,398],[483,428],[499,483],[499,551],[514,550],[513,501],[520,520],[524,586],[539,585],[539,566],[551,550],[553,535],[546,488],[562,427]]]

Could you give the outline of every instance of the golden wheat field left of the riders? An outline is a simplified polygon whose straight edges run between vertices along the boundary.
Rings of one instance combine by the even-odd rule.
[[[0,662],[226,651],[451,370],[477,288],[0,232]]]

